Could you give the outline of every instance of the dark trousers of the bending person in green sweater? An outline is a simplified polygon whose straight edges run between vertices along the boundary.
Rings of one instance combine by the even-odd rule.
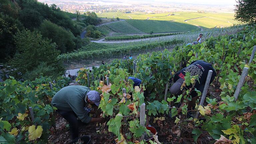
[[[78,127],[79,125],[87,125],[83,123],[81,120],[78,120],[76,114],[73,111],[64,111],[64,110],[57,110],[57,112],[69,122],[69,129],[71,133],[72,139],[76,139],[79,136]]]

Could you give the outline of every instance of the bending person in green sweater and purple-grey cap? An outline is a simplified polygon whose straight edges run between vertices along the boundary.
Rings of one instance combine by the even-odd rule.
[[[62,88],[52,98],[52,106],[57,108],[57,112],[69,122],[72,141],[78,140],[81,124],[102,122],[104,118],[92,118],[89,114],[94,114],[100,104],[100,93],[90,90],[88,87],[73,85]],[[92,109],[88,108],[92,105]]]

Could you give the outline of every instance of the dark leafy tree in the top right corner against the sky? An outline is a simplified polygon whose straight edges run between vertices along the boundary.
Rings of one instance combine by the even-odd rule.
[[[256,0],[238,0],[235,5],[235,20],[255,24],[256,23]]]

